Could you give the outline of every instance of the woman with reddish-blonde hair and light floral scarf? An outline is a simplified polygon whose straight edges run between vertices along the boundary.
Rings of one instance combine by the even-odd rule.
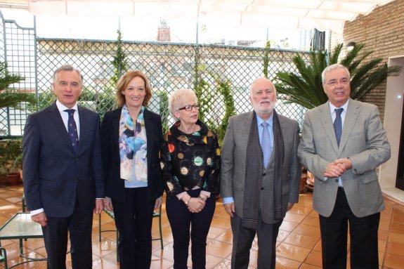
[[[119,230],[120,268],[150,268],[152,216],[162,204],[162,121],[145,108],[151,96],[143,72],[126,72],[117,84],[119,108],[107,112],[101,124],[104,203]]]

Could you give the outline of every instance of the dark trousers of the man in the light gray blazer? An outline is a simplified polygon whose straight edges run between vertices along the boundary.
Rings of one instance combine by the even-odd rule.
[[[339,188],[331,216],[320,215],[322,268],[346,268],[348,223],[351,235],[351,268],[379,268],[377,248],[379,220],[380,213],[363,218],[354,216],[349,208],[344,190]]]

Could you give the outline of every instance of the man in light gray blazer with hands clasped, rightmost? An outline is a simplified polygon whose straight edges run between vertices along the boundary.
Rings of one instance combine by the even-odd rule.
[[[322,72],[329,101],[306,112],[299,160],[315,176],[313,208],[320,215],[322,268],[346,268],[349,223],[351,268],[379,268],[377,230],[384,209],[375,169],[390,158],[376,105],[349,98],[349,72]]]

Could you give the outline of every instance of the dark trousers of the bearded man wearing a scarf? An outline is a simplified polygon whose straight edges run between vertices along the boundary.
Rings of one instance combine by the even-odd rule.
[[[261,214],[258,217],[258,230],[242,228],[242,218],[233,214],[230,219],[233,231],[233,251],[231,253],[231,268],[245,269],[249,265],[249,250],[255,235],[258,235],[258,269],[275,268],[276,237],[282,221],[264,223]]]

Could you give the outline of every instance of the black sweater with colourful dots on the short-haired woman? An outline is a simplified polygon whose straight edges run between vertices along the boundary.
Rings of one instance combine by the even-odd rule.
[[[200,120],[197,121],[200,131],[191,134],[180,131],[179,125],[178,121],[164,134],[160,150],[167,196],[174,197],[195,186],[219,194],[220,149],[216,133]]]

